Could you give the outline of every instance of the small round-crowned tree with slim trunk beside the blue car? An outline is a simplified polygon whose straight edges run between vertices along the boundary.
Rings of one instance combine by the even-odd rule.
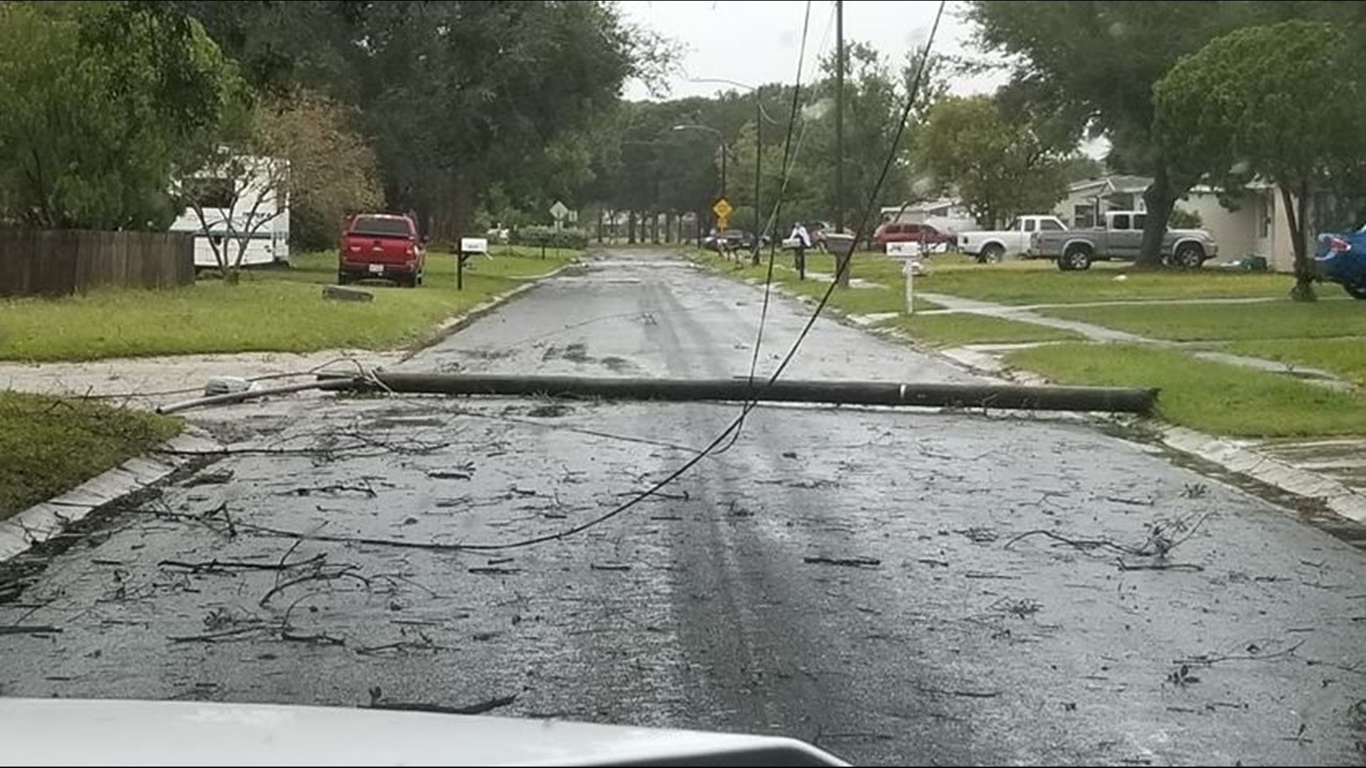
[[[1325,22],[1244,27],[1183,57],[1154,89],[1157,134],[1184,175],[1280,189],[1300,301],[1314,299],[1310,201],[1366,156],[1366,81],[1343,55],[1354,42]]]

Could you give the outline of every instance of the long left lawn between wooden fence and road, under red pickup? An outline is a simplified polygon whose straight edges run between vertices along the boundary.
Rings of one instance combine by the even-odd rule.
[[[245,272],[242,284],[204,279],[163,291],[108,290],[63,299],[0,301],[0,359],[60,361],[194,353],[392,348],[429,339],[436,325],[549,272],[578,251],[496,247],[471,257],[455,290],[455,257],[428,256],[419,288],[373,287],[373,302],[325,301],[336,257],[305,254],[294,269]],[[534,254],[534,256],[533,256]]]

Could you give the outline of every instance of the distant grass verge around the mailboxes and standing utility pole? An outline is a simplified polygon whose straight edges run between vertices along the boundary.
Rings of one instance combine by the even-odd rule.
[[[759,266],[751,266],[747,258],[742,260],[742,262],[736,265],[734,261],[727,261],[720,254],[708,250],[697,250],[691,254],[691,257],[699,264],[734,277],[764,280],[768,275],[766,253],[764,254],[764,262]],[[854,258],[854,276],[861,280],[867,280],[869,283],[876,283],[881,287],[836,288],[831,295],[828,306],[832,306],[846,314],[902,312],[906,307],[906,286],[902,277],[902,262],[872,253],[858,253]],[[829,290],[831,284],[822,280],[799,280],[796,271],[791,266],[792,256],[790,253],[779,253],[777,260],[773,264],[775,284],[780,284],[794,294],[814,299],[820,299],[825,295],[825,291]],[[807,254],[806,272],[807,275],[833,275],[835,257],[814,253]],[[914,302],[917,310],[940,309],[937,303],[919,297],[915,297]]]

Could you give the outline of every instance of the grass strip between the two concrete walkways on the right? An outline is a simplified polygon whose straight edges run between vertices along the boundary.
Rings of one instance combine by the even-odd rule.
[[[1366,306],[1355,301],[1076,306],[1040,313],[1176,342],[1366,336]]]

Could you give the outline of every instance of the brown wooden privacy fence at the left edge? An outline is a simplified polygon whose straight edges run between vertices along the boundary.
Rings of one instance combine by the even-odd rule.
[[[194,283],[194,235],[0,230],[0,295],[68,295],[105,286]]]

